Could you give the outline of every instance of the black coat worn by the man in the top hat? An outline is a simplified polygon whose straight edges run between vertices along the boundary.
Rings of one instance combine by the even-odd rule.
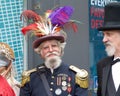
[[[97,64],[98,76],[98,90],[97,96],[106,96],[106,84],[108,81],[108,74],[111,69],[113,57],[106,57]]]

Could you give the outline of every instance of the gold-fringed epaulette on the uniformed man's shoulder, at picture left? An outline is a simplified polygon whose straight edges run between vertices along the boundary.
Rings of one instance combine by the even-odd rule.
[[[31,69],[31,70],[28,70],[28,71],[23,71],[21,87],[23,87],[27,82],[30,81],[30,74],[32,72],[35,72],[35,71],[37,71],[37,68]]]

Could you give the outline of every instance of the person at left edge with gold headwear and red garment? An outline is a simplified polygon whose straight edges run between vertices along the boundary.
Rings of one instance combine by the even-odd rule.
[[[0,42],[0,96],[19,96],[20,83],[14,78],[13,60],[13,50]]]

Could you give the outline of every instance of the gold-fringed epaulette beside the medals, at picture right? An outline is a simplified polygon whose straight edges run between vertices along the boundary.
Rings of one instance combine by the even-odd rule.
[[[69,67],[72,71],[76,72],[75,82],[82,88],[88,88],[88,72],[84,69],[79,69],[71,65]]]

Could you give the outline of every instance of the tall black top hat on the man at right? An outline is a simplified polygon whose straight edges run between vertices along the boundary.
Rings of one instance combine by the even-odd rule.
[[[112,2],[105,6],[104,25],[99,31],[120,29],[120,2]]]

